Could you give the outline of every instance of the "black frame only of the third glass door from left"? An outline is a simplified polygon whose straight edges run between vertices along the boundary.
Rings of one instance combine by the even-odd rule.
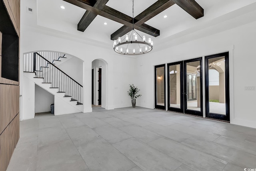
[[[195,62],[195,61],[200,61],[200,110],[190,110],[187,107],[187,65],[186,63],[190,63],[190,62]],[[183,65],[184,65],[184,113],[185,114],[191,114],[191,115],[196,115],[196,116],[202,116],[203,117],[203,67],[202,67],[202,57],[198,57],[198,58],[194,58],[194,59],[188,59],[183,61]],[[186,83],[186,84],[185,84]],[[197,87],[199,85],[197,84]],[[198,98],[198,96],[197,96]]]

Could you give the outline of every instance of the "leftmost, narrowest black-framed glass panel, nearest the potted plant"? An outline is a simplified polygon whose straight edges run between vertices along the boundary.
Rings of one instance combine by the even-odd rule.
[[[155,108],[165,110],[165,65],[155,66]]]

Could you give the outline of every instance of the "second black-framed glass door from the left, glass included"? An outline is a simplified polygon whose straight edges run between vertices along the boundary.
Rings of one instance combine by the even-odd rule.
[[[183,113],[183,61],[168,64],[168,110]]]

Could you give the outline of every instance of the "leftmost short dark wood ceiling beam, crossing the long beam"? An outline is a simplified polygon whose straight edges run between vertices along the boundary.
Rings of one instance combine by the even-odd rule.
[[[93,7],[102,10],[102,8],[106,5],[108,1],[109,0],[97,0]],[[92,23],[96,16],[97,14],[86,10],[84,16],[81,18],[80,22],[77,25],[77,29],[79,31],[84,31]]]

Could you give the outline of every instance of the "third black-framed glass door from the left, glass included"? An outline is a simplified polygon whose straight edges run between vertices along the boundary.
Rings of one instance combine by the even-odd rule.
[[[184,113],[203,116],[202,57],[184,61]]]

